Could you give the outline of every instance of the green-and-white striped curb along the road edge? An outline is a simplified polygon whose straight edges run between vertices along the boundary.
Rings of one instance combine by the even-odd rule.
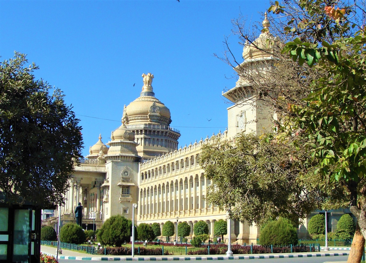
[[[43,252],[42,252],[43,253]],[[55,256],[50,253],[44,253]],[[172,261],[172,260],[233,260],[233,259],[275,259],[275,258],[312,258],[326,256],[348,256],[350,252],[344,253],[314,253],[314,254],[278,254],[278,255],[250,255],[250,256],[194,256],[194,257],[146,257],[146,258],[115,258],[115,257],[80,257],[80,256],[59,256],[59,259],[72,260],[99,260],[99,261]]]

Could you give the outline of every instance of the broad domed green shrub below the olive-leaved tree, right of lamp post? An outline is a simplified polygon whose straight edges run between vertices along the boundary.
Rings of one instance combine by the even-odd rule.
[[[261,245],[285,246],[291,244],[296,245],[297,243],[297,230],[285,218],[268,222],[259,237],[259,244]]]

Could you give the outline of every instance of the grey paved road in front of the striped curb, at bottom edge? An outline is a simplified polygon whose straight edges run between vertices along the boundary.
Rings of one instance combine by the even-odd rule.
[[[346,262],[348,256],[331,256],[331,257],[312,257],[312,258],[282,258],[282,259],[235,259],[232,263],[324,263],[324,262]],[[189,263],[224,263],[224,260],[189,260]],[[81,262],[100,262],[90,260],[71,260],[59,259],[60,263],[81,263]],[[103,261],[105,262],[105,261]],[[129,261],[131,262],[131,261]],[[164,261],[176,262],[176,261]]]

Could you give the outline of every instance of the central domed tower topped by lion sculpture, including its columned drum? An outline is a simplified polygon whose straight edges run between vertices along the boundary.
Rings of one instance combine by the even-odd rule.
[[[155,97],[151,73],[142,74],[140,97],[124,106],[122,123],[135,134],[136,149],[143,159],[173,151],[178,147],[178,130],[169,127],[170,110]]]

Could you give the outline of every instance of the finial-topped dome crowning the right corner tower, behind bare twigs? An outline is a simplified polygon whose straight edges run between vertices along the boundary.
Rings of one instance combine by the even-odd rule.
[[[269,20],[267,19],[267,12],[264,14],[264,20],[262,22],[263,25],[263,33],[259,35],[259,37],[253,41],[252,44],[249,44],[247,41],[244,44],[243,48],[243,59],[258,59],[262,57],[269,57],[270,52],[272,50],[272,46],[268,42],[274,41],[275,38],[271,33],[269,33]]]

